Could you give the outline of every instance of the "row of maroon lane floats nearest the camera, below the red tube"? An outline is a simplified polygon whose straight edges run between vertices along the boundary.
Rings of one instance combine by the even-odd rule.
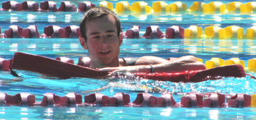
[[[223,94],[210,93],[210,95],[212,97],[203,100],[202,94],[189,93],[176,103],[170,93],[164,93],[161,97],[155,97],[149,93],[139,93],[136,99],[130,103],[130,95],[124,93],[115,93],[113,97],[93,93],[85,95],[83,102],[82,95],[76,93],[68,93],[63,97],[45,93],[42,101],[36,101],[33,94],[22,92],[8,95],[0,92],[0,106],[251,107],[251,95],[236,94],[231,97],[234,98],[233,101],[228,100],[228,96]],[[221,97],[218,97],[219,95]],[[210,99],[211,101],[209,101]]]

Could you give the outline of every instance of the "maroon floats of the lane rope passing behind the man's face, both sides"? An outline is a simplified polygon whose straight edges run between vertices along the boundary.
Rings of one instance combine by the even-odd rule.
[[[133,25],[131,29],[127,29],[123,33],[124,37],[149,39],[184,37],[184,28],[179,26],[166,28],[166,34],[160,31],[159,26],[148,26],[142,37],[139,36],[139,28],[140,26]],[[122,28],[120,31],[122,32]],[[11,25],[9,29],[4,30],[3,34],[0,33],[0,38],[79,38],[80,36],[80,27],[75,25],[69,25],[64,28],[57,25],[45,26],[41,35],[37,31],[36,25],[30,25],[25,29],[17,25]]]

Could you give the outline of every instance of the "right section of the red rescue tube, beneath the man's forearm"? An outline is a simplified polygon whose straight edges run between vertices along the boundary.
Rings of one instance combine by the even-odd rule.
[[[219,77],[245,77],[242,65],[226,65],[208,70],[185,71],[181,73],[135,73],[143,79],[171,82],[202,82],[216,80]]]

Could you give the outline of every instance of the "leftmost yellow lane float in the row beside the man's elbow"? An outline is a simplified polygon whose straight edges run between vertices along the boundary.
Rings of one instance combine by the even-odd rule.
[[[220,58],[211,58],[210,61],[205,62],[206,69],[224,66],[224,65],[225,65],[225,60]]]

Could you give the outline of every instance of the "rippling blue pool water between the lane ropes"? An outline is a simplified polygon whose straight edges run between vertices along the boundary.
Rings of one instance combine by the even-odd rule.
[[[2,1],[1,1],[2,2]],[[17,1],[24,2],[24,1]],[[42,1],[35,1],[42,2]],[[57,8],[60,1],[54,1]],[[82,1],[70,1],[78,5]],[[92,1],[97,6],[100,1]],[[112,2],[115,8],[115,3]],[[136,1],[128,1],[130,4]],[[150,6],[155,1],[145,1]],[[175,1],[165,1],[171,4]],[[182,1],[190,7],[196,1]],[[206,3],[213,1],[205,1]],[[227,4],[232,1],[220,1]],[[250,1],[240,1],[243,3]],[[0,7],[2,7],[0,5]],[[40,34],[48,25],[65,27],[68,25],[79,26],[83,12],[28,12],[28,11],[0,11],[1,33],[10,25],[18,25],[27,28],[29,25],[37,25]],[[179,13],[118,13],[123,31],[130,29],[132,25],[140,25],[140,36],[150,25],[158,25],[162,32],[165,28],[178,25],[187,29],[191,25],[206,26],[217,25],[221,28],[236,25],[247,28],[255,25],[256,13],[240,14],[240,12],[228,12],[226,14],[203,14],[202,12],[179,12]],[[202,58],[203,62],[213,57],[221,59],[239,58],[245,61],[256,58],[255,40],[210,40],[206,38],[194,39],[153,39],[146,38],[124,39],[120,48],[120,57],[139,57],[145,55],[159,56],[161,58],[180,57],[194,55]],[[74,59],[75,64],[81,56],[88,56],[86,50],[80,46],[77,38],[1,38],[0,57],[13,58],[14,52],[26,52],[36,55],[57,58],[66,56]],[[231,71],[232,72],[232,71]],[[256,75],[255,73],[250,73]],[[15,95],[28,92],[36,95],[36,101],[42,101],[43,94],[51,92],[60,97],[75,92],[85,96],[91,89],[101,88],[109,83],[115,83],[110,88],[97,91],[112,97],[117,92],[130,95],[130,101],[135,100],[140,92],[149,92],[160,97],[162,93],[145,91],[142,86],[148,88],[161,87],[173,93],[176,102],[187,92],[219,92],[222,94],[235,95],[236,93],[255,94],[255,79],[250,77],[233,78],[226,77],[220,80],[208,80],[200,83],[172,83],[153,80],[130,80],[130,79],[46,79],[35,76],[14,77],[7,71],[0,71],[0,92]],[[126,87],[124,87],[126,86]],[[27,107],[27,106],[0,106],[0,119],[255,119],[256,109],[246,108],[165,108],[165,107]]]

